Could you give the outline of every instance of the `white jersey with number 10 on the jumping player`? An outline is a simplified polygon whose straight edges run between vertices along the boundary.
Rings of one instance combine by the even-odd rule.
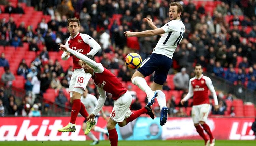
[[[185,26],[181,20],[172,20],[162,26],[165,31],[152,53],[162,54],[172,59],[173,53],[181,42]]]

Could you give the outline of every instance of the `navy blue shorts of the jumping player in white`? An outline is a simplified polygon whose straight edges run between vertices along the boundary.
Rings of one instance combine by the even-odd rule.
[[[172,59],[161,54],[152,53],[137,69],[143,76],[149,76],[154,71],[154,82],[160,85],[166,81],[169,69],[172,66]]]

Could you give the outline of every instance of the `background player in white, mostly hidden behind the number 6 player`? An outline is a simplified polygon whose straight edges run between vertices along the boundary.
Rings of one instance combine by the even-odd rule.
[[[89,94],[87,89],[85,89],[83,95],[81,96],[81,102],[84,104],[87,112],[90,114],[91,112],[93,112],[95,106],[98,103],[98,100],[97,100],[97,98],[94,95]],[[107,117],[104,114],[104,111],[102,109],[101,109],[101,114],[102,114],[102,117],[106,120]],[[98,113],[97,116],[95,116],[96,124],[98,122],[99,115],[100,115],[100,113]],[[86,130],[86,126],[87,126],[86,122],[87,122],[87,119],[85,118],[85,120],[83,122],[83,125],[82,125],[83,131]],[[93,127],[91,127],[91,130],[93,130],[95,132],[101,132],[103,134],[106,134],[107,137],[108,137],[109,136],[108,130],[103,129],[103,128],[99,127],[99,126],[96,126],[96,124]],[[91,145],[96,145],[96,144],[99,143],[99,140],[96,138],[96,136],[93,133],[90,132],[88,134],[88,136],[93,140],[93,143],[91,143]]]

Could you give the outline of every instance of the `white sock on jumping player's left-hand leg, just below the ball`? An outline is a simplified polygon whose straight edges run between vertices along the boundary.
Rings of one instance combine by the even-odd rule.
[[[144,91],[147,96],[152,92],[151,88],[147,85],[147,81],[139,76],[136,76],[132,79],[132,83],[138,86],[142,91]]]

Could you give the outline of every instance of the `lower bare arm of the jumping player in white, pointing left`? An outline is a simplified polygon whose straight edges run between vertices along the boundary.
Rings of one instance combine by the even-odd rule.
[[[146,31],[142,31],[142,32],[130,32],[130,31],[124,32],[126,37],[133,37],[133,36],[148,37],[148,36],[155,36],[155,35],[160,35],[160,34],[164,34],[164,33],[165,33],[165,31],[162,28],[158,28],[158,29],[154,29],[154,30],[146,30]]]

